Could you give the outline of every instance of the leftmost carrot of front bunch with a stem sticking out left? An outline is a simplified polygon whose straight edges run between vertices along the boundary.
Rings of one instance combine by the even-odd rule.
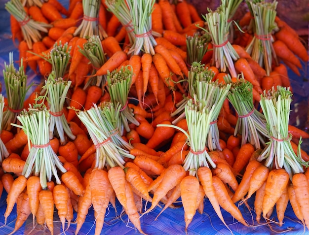
[[[166,169],[162,181],[154,191],[153,201],[151,207],[145,211],[148,213],[154,209],[158,202],[173,189],[176,185],[180,184],[181,180],[186,176],[185,169],[180,165],[171,165]]]

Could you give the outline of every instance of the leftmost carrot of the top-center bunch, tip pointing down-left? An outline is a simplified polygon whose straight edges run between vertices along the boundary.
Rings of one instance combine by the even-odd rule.
[[[116,51],[108,60],[100,67],[94,76],[106,75],[108,71],[113,71],[127,59],[127,54],[123,51]]]

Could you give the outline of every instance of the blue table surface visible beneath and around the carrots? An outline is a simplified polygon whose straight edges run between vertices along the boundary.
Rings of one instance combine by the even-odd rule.
[[[18,50],[12,43],[11,33],[9,28],[9,14],[4,9],[4,3],[6,0],[0,0],[0,70],[2,71],[4,68],[4,62],[9,63],[9,52],[13,52],[13,59],[16,61],[16,67],[18,67]],[[306,67],[306,66],[305,66]],[[308,66],[307,66],[308,67]],[[307,97],[309,93],[308,89],[308,71],[302,70],[302,77],[295,77],[291,71],[289,74],[293,79],[292,87],[294,90],[298,91],[300,94],[300,98],[298,97],[298,101],[305,101],[307,103]],[[28,75],[28,83],[35,82],[39,83],[40,77],[38,77],[34,72],[32,72],[29,68],[27,69]],[[306,80],[307,79],[307,80]],[[3,74],[0,73],[0,82],[2,83],[2,94],[5,95],[5,88],[3,87]],[[34,89],[34,87],[32,88]],[[29,91],[29,93],[32,91]],[[304,118],[304,117],[303,117]],[[306,119],[307,120],[307,119]],[[16,208],[14,207],[13,212],[8,217],[8,223],[5,226],[4,222],[4,211],[6,208],[6,193],[4,192],[0,198],[0,234],[8,234],[14,228],[14,221],[16,218]],[[253,207],[254,198],[248,201],[249,205]],[[149,206],[149,205],[148,205]],[[252,225],[249,227],[245,227],[233,220],[232,216],[222,210],[223,216],[226,220],[226,223],[229,225],[232,233],[234,235],[274,235],[274,234],[289,234],[289,235],[303,235],[309,234],[308,230],[304,230],[304,227],[301,223],[299,223],[292,211],[290,203],[288,204],[286,210],[286,217],[284,218],[284,224],[282,227],[277,226],[275,223],[270,223],[267,225],[265,221],[262,221],[262,224],[257,224],[253,218],[255,218],[254,210],[249,211],[243,205],[239,207],[243,217],[248,222],[248,224]],[[105,217],[105,222],[102,230],[102,234],[109,235],[131,235],[131,234],[139,234],[138,231],[133,229],[133,225],[128,223],[128,218],[126,215],[120,216],[121,206],[117,204],[117,212],[110,205]],[[185,234],[185,222],[184,222],[184,210],[182,207],[177,209],[168,208],[165,212],[163,212],[156,221],[154,218],[160,211],[159,207],[156,207],[154,211],[151,213],[144,215],[141,217],[142,229],[146,234],[149,235],[170,235],[170,234]],[[76,213],[74,214],[74,218],[76,218]],[[273,213],[273,219],[276,220],[275,212]],[[61,223],[58,219],[57,212],[54,214],[54,227],[55,234],[61,234]],[[76,225],[73,223],[66,234],[74,234],[76,229]],[[228,235],[231,234],[231,231],[225,227],[220,219],[215,214],[210,202],[205,199],[204,211],[202,214],[196,212],[192,223],[189,225],[188,234],[189,235]],[[89,214],[86,217],[86,221],[82,226],[79,234],[93,234],[94,233],[94,216],[93,209],[89,209]],[[50,234],[48,230],[44,230],[42,227],[37,225],[34,229],[32,227],[32,216],[28,218],[25,222],[22,229],[15,233],[16,235],[43,235]]]

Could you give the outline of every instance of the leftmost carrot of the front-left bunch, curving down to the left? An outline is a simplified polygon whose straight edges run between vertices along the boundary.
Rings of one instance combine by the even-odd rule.
[[[23,175],[18,176],[14,180],[14,182],[13,182],[13,184],[12,184],[12,186],[11,186],[9,192],[8,192],[7,198],[6,198],[7,205],[6,205],[6,210],[5,210],[5,213],[4,213],[4,224],[6,224],[6,219],[10,215],[10,213],[12,212],[12,209],[13,209],[13,206],[15,204],[15,201],[17,200],[17,197],[26,188],[26,184],[27,184],[27,179]]]

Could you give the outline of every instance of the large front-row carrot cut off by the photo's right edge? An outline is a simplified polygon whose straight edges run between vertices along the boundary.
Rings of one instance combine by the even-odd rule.
[[[308,206],[309,206],[309,198],[307,195],[309,194],[309,182],[305,174],[297,173],[292,177],[292,183],[295,190],[295,195],[297,201],[300,204],[301,212],[304,216],[304,221],[309,228],[309,218],[308,218]]]

